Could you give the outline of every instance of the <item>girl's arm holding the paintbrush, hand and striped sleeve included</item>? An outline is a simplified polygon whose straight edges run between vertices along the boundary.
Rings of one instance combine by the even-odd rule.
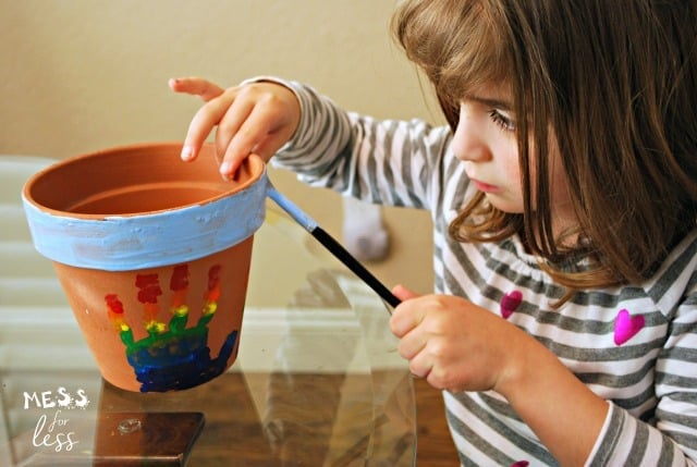
[[[694,466],[697,310],[683,305],[655,371],[656,420],[639,420],[595,394],[524,330],[455,296],[416,297],[403,287],[390,325],[411,371],[454,393],[493,391],[564,466]]]

